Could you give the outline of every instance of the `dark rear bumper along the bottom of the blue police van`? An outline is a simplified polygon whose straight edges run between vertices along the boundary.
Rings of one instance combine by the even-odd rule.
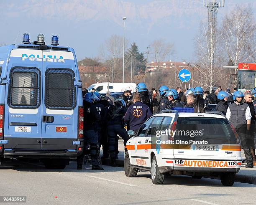
[[[3,152],[5,158],[30,159],[76,159],[80,154],[82,154],[82,151],[77,152],[77,150],[74,152],[70,152],[68,150],[4,150]]]

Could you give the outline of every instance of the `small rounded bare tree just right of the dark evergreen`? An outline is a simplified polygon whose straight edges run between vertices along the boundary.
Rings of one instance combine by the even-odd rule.
[[[168,43],[164,39],[154,40],[151,45],[152,53],[154,55],[155,61],[157,63],[157,74],[155,78],[155,87],[156,81],[159,79],[159,70],[161,68],[161,63],[166,59],[167,56],[172,55],[174,52],[174,44]]]

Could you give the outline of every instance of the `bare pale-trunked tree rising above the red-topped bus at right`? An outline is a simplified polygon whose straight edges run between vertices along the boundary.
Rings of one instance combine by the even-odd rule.
[[[250,5],[237,6],[226,14],[220,30],[222,43],[234,66],[241,61],[255,62],[256,24]]]

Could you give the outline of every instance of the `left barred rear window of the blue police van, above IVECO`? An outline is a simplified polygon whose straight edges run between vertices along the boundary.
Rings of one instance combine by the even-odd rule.
[[[14,67],[10,71],[8,104],[12,108],[37,108],[40,104],[41,73],[37,68]]]

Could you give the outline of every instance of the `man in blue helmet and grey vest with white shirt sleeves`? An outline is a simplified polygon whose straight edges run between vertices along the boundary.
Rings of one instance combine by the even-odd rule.
[[[246,131],[250,130],[251,125],[251,111],[248,104],[243,103],[243,93],[241,91],[234,92],[233,100],[234,103],[228,107],[226,117],[236,129],[241,139],[243,152],[247,161],[246,168],[253,168],[253,156],[246,139]]]

